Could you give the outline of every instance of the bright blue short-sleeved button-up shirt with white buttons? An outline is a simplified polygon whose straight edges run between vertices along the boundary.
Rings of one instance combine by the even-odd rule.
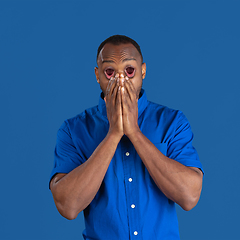
[[[149,102],[142,90],[138,124],[164,155],[202,169],[192,146],[189,122],[181,111]],[[87,161],[108,129],[106,105],[101,96],[98,106],[66,120],[58,131],[51,178],[56,173],[69,173]],[[157,187],[126,136],[117,146],[99,191],[84,210],[84,218],[84,239],[179,239],[175,203]]]

